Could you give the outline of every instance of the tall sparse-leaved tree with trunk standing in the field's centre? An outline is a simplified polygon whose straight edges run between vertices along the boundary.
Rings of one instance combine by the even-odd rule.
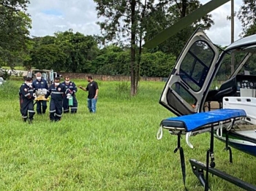
[[[140,74],[140,54],[142,49],[143,18],[154,0],[94,0],[98,17],[106,17],[99,22],[106,42],[119,42],[130,47],[131,95],[136,95]]]

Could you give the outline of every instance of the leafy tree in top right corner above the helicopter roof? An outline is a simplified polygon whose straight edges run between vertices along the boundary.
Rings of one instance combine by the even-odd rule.
[[[238,11],[238,19],[242,23],[242,36],[256,34],[256,0],[243,0]]]

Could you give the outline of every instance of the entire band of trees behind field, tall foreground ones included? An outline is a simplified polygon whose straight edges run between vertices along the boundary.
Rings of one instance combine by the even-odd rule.
[[[129,75],[131,95],[141,76],[167,77],[184,44],[196,28],[206,30],[211,15],[187,26],[178,34],[146,49],[143,42],[202,6],[198,0],[94,0],[102,34],[85,36],[79,32],[57,31],[53,36],[29,36],[29,0],[0,0],[0,65],[27,69]],[[228,13],[227,13],[228,16]],[[243,32],[255,34],[254,0],[243,0],[237,12]]]

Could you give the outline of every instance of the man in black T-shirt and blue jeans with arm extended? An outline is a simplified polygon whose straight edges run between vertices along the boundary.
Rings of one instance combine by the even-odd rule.
[[[86,88],[84,88],[82,86],[79,86],[79,88],[84,90],[84,91],[88,91],[87,101],[88,101],[89,112],[95,113],[96,112],[97,99],[98,99],[98,93],[99,93],[99,87],[98,87],[97,82],[95,82],[92,79],[91,75],[89,75],[87,77],[87,81],[89,82],[89,84],[87,85]]]

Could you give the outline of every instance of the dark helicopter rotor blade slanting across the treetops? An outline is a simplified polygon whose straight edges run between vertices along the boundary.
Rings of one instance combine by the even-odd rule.
[[[156,47],[158,44],[164,42],[166,39],[169,39],[170,36],[178,33],[183,28],[191,25],[196,20],[200,19],[201,17],[207,15],[209,12],[217,9],[218,7],[222,6],[222,4],[227,3],[230,0],[211,0],[207,4],[204,4],[200,8],[196,9],[194,12],[190,13],[186,17],[181,18],[178,20],[177,23],[174,23],[173,26],[165,28],[165,30],[161,31],[159,34],[154,36],[153,39],[146,42],[143,47]]]

